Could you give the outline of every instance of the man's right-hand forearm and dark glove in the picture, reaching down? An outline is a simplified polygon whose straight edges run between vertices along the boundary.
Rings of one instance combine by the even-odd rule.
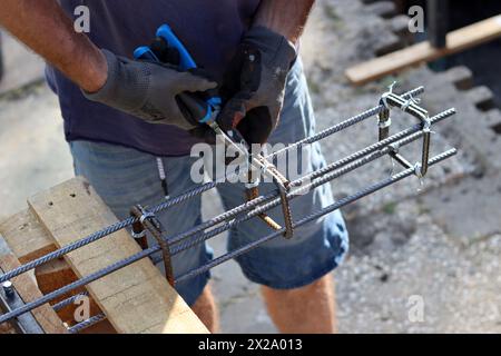
[[[218,118],[248,144],[265,144],[278,125],[285,83],[314,0],[263,0],[227,72],[229,98]]]

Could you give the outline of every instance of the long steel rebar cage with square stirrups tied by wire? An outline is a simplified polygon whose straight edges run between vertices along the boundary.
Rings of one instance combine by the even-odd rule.
[[[438,155],[433,158],[429,158],[430,155],[430,142],[431,142],[431,126],[450,118],[455,113],[454,109],[445,110],[432,118],[429,117],[428,111],[421,108],[416,100],[414,99],[415,96],[423,92],[423,88],[414,89],[403,96],[399,96],[393,93],[392,90],[384,93],[381,98],[380,105],[375,108],[372,108],[365,112],[362,112],[355,117],[352,117],[345,121],[342,121],[341,123],[337,123],[313,137],[305,138],[298,142],[295,142],[294,145],[291,145],[289,147],[274,152],[267,157],[252,157],[253,159],[253,167],[265,167],[266,170],[269,167],[273,167],[271,164],[268,164],[269,160],[273,160],[274,158],[278,157],[279,155],[294,149],[299,148],[304,145],[313,144],[318,140],[322,140],[326,137],[332,136],[333,134],[340,132],[348,127],[352,127],[358,122],[362,122],[373,116],[379,115],[379,121],[380,121],[380,140],[353,155],[350,155],[343,159],[340,159],[335,162],[330,164],[328,166],[322,168],[321,170],[313,171],[295,181],[287,181],[285,178],[279,178],[282,175],[277,171],[273,172],[272,176],[275,178],[278,177],[278,179],[274,179],[275,184],[277,185],[277,189],[266,196],[261,196],[258,194],[258,190],[253,190],[252,195],[247,195],[248,201],[243,204],[242,206],[238,206],[229,211],[226,211],[219,216],[216,216],[208,221],[205,221],[187,231],[183,231],[180,234],[176,234],[174,236],[165,236],[166,231],[161,228],[161,226],[155,224],[156,215],[169,209],[173,206],[176,206],[179,202],[186,201],[193,197],[196,197],[207,190],[210,190],[218,185],[220,185],[223,181],[212,181],[208,184],[205,184],[200,187],[197,187],[195,189],[191,189],[189,191],[186,191],[177,197],[169,198],[168,200],[164,201],[163,204],[151,207],[149,209],[143,209],[141,207],[136,207],[132,209],[132,216],[128,219],[125,219],[122,221],[119,221],[112,226],[109,226],[100,231],[97,231],[95,234],[91,234],[87,236],[86,238],[82,238],[73,244],[70,244],[63,248],[58,249],[57,251],[53,251],[51,254],[48,254],[41,258],[38,258],[31,263],[28,263],[19,268],[16,268],[13,270],[10,270],[3,275],[0,275],[0,283],[9,280],[16,276],[19,276],[20,274],[23,274],[30,269],[33,269],[40,265],[43,265],[55,258],[59,258],[72,250],[76,250],[82,246],[86,246],[88,244],[91,244],[98,239],[105,238],[106,236],[120,230],[122,228],[131,227],[134,226],[134,233],[136,237],[144,238],[144,231],[149,230],[154,234],[157,244],[154,246],[145,246],[143,244],[143,250],[140,253],[137,253],[136,255],[132,255],[128,258],[125,258],[120,261],[117,261],[101,270],[98,270],[89,276],[82,277],[81,279],[78,279],[58,290],[55,290],[52,293],[47,294],[46,296],[33,300],[31,303],[28,303],[23,306],[16,307],[11,312],[0,315],[0,324],[11,320],[13,318],[17,318],[21,315],[24,315],[26,313],[29,313],[33,308],[43,305],[57,297],[60,297],[76,288],[86,286],[87,284],[97,280],[99,278],[102,278],[115,270],[118,270],[120,268],[124,268],[137,260],[140,260],[146,257],[150,257],[158,251],[164,251],[163,257],[160,260],[154,260],[154,263],[158,263],[164,260],[164,264],[168,264],[170,266],[170,258],[171,256],[176,256],[177,254],[191,248],[198,244],[202,244],[217,235],[219,235],[223,231],[226,231],[230,229],[232,227],[237,226],[238,224],[242,224],[243,221],[247,221],[254,217],[264,217],[265,212],[274,207],[282,206],[284,211],[284,218],[285,218],[285,227],[281,227],[277,224],[273,225],[271,224],[272,229],[274,230],[271,235],[262,237],[246,246],[242,246],[240,248],[228,253],[226,255],[223,255],[210,263],[208,263],[205,266],[195,268],[181,276],[178,276],[174,280],[174,271],[166,268],[167,270],[167,277],[169,279],[169,283],[175,285],[176,283],[179,283],[181,280],[186,280],[188,278],[193,278],[199,274],[203,274],[215,266],[218,266],[229,259],[233,259],[237,256],[240,256],[243,254],[248,253],[249,250],[261,246],[262,244],[265,244],[266,241],[269,241],[274,238],[277,238],[279,236],[285,237],[292,237],[292,231],[294,228],[297,228],[302,225],[308,224],[311,221],[316,220],[317,218],[333,212],[341,207],[344,207],[348,204],[352,204],[353,201],[356,201],[367,195],[371,195],[377,190],[381,190],[385,187],[389,187],[396,181],[400,181],[404,178],[411,177],[413,175],[416,175],[419,177],[423,177],[428,172],[428,168],[430,166],[440,164],[441,161],[454,156],[456,154],[455,149],[448,150],[441,155]],[[420,123],[410,127],[401,132],[394,134],[390,136],[390,126],[391,126],[391,118],[390,118],[390,110],[392,108],[399,108],[403,110],[404,112],[410,113],[411,116],[420,119]],[[415,165],[410,164],[405,158],[399,155],[397,148],[409,145],[413,141],[416,141],[419,139],[423,139],[423,146],[422,146],[422,160],[421,162],[418,162]],[[404,170],[393,175],[380,182],[376,182],[374,185],[371,185],[361,191],[348,196],[342,200],[338,200],[334,202],[333,205],[312,212],[310,216],[304,217],[299,219],[298,221],[293,221],[291,217],[291,210],[288,207],[288,201],[292,199],[295,199],[305,192],[307,192],[310,189],[320,187],[322,185],[328,184],[330,181],[342,177],[351,171],[354,171],[358,169],[360,167],[363,167],[381,157],[391,156],[395,158],[402,166],[404,167]],[[263,175],[265,171],[261,171]],[[269,171],[267,171],[269,174]],[[257,188],[258,185],[255,185]],[[248,187],[250,188],[250,187]],[[256,194],[257,191],[257,194]],[[288,209],[288,210],[287,210]],[[167,266],[168,267],[168,266]],[[170,271],[169,271],[170,270]],[[170,276],[170,277],[169,277]],[[62,300],[61,303],[58,303],[55,305],[55,309],[59,310],[62,307],[69,305],[75,300],[75,297],[70,297],[66,300]],[[97,323],[104,318],[104,315],[98,315],[92,317],[89,320],[82,322],[72,328],[70,328],[70,332],[78,332],[81,330],[85,327],[88,327],[92,325],[92,323]]]

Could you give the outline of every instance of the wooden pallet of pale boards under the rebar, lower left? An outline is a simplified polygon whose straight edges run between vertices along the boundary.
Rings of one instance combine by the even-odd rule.
[[[21,263],[33,260],[117,221],[82,178],[71,179],[36,195],[28,199],[28,206],[27,210],[0,222],[0,234]],[[138,251],[140,247],[126,230],[117,231],[68,254],[65,259],[37,268],[37,289],[43,294],[50,293]],[[149,259],[115,271],[71,295],[82,290],[90,294],[91,315],[105,313],[107,317],[87,333],[208,333]],[[75,325],[73,312],[77,307],[58,312],[60,320]]]

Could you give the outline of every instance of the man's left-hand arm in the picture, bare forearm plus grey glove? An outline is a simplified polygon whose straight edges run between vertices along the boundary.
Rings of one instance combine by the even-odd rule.
[[[217,83],[174,66],[136,61],[97,48],[56,0],[1,0],[0,26],[58,68],[84,96],[151,123],[198,128],[177,102],[183,92],[204,92]]]

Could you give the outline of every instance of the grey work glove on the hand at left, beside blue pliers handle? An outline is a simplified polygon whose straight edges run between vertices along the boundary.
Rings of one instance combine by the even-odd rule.
[[[185,117],[176,98],[181,92],[204,92],[216,82],[165,63],[130,60],[102,50],[108,79],[97,92],[85,92],[92,101],[108,105],[147,122],[174,125],[185,130],[198,126]]]

